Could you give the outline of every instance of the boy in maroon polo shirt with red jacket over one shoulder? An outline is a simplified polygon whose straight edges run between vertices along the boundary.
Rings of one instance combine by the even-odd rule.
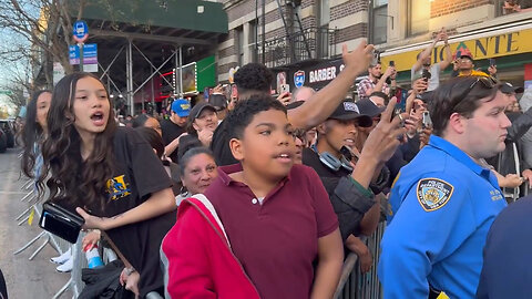
[[[317,174],[294,165],[293,128],[285,106],[267,95],[252,96],[238,103],[225,121],[233,156],[241,163],[219,167],[218,178],[205,192],[228,244],[216,250],[232,250],[263,299],[331,298],[344,259],[338,219]],[[176,227],[187,221],[186,213],[196,210],[186,209]],[[208,257],[180,248],[180,244],[201,239],[197,234],[171,230],[166,237],[175,238],[172,244],[177,248],[167,248],[181,250],[174,255],[181,262],[197,262],[205,269],[197,272],[196,268],[190,276],[182,271],[178,281],[170,276],[173,287],[186,288],[197,277],[216,279],[205,266]],[[167,256],[171,265],[175,262]],[[218,293],[215,281],[206,285]]]

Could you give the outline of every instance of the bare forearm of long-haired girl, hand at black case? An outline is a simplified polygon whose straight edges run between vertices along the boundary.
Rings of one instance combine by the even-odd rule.
[[[78,207],[75,212],[85,219],[85,229],[109,230],[120,226],[154,218],[176,208],[172,188],[153,193],[146,202],[114,217],[96,217]]]

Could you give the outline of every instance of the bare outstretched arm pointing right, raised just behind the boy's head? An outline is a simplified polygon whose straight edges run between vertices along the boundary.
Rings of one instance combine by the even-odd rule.
[[[327,86],[315,93],[297,109],[288,111],[288,120],[295,127],[310,128],[323,123],[344,101],[346,93],[359,74],[368,69],[372,44],[360,42],[357,49],[348,52],[342,47],[345,69]]]

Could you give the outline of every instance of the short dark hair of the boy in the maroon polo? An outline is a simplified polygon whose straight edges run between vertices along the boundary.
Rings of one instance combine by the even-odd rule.
[[[254,94],[247,101],[239,101],[224,121],[228,128],[227,133],[229,140],[242,140],[244,136],[244,130],[246,130],[252,123],[253,117],[256,114],[268,110],[278,110],[286,114],[286,107],[279,101],[274,100],[269,95]]]

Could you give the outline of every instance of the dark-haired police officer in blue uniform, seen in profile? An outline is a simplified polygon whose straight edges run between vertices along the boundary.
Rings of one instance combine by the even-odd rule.
[[[479,159],[504,150],[507,104],[490,78],[457,78],[434,91],[434,135],[391,190],[379,262],[385,298],[428,298],[429,288],[474,297],[488,230],[507,205]]]

